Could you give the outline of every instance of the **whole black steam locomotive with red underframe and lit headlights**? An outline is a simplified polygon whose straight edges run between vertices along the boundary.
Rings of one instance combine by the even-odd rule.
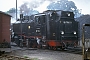
[[[32,22],[22,23],[24,38],[40,40],[42,48],[56,50],[78,45],[78,22],[70,11],[47,10],[31,16]],[[13,24],[13,31],[19,35],[21,23]],[[17,27],[19,27],[17,29]],[[33,41],[34,41],[33,40]],[[40,43],[40,42],[39,42]],[[33,44],[34,45],[34,44]],[[35,45],[34,45],[35,46]]]

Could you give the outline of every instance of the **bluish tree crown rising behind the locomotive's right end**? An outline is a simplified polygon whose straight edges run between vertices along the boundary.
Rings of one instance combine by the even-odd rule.
[[[75,17],[79,16],[79,11],[75,6],[73,1],[68,0],[59,0],[57,2],[52,2],[49,6],[47,6],[49,10],[64,10],[64,11],[72,11],[75,14]]]

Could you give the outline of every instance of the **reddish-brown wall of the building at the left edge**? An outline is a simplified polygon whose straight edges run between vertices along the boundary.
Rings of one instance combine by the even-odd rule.
[[[10,15],[0,13],[0,43],[2,43],[4,39],[10,43],[10,20]]]

